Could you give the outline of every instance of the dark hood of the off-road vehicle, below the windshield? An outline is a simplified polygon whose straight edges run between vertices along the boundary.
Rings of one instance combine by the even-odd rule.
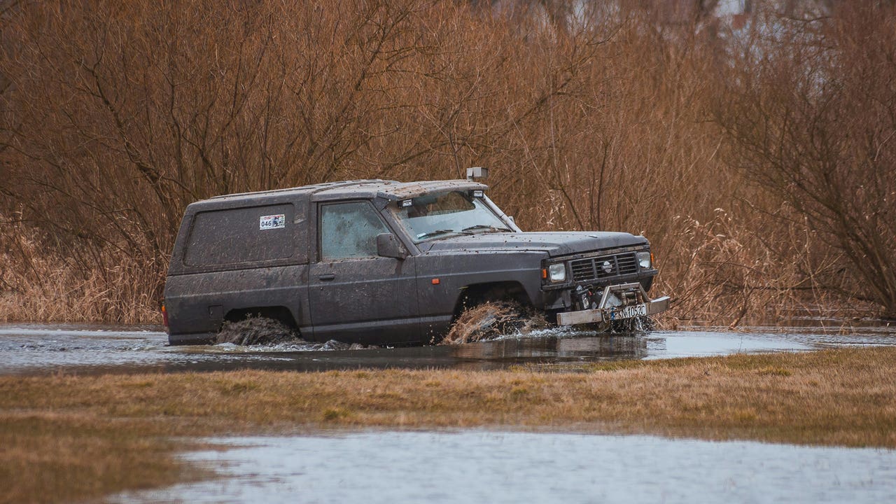
[[[478,233],[433,239],[418,244],[424,252],[449,250],[500,251],[529,250],[546,252],[548,256],[569,256],[607,248],[647,245],[642,236],[607,231]]]

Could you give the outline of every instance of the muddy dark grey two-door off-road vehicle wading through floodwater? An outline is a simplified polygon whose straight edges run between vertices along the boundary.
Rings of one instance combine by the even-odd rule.
[[[559,325],[646,317],[650,244],[522,232],[473,180],[351,180],[213,197],[181,222],[163,313],[172,344],[269,317],[303,339],[439,341],[465,307],[515,300]]]

